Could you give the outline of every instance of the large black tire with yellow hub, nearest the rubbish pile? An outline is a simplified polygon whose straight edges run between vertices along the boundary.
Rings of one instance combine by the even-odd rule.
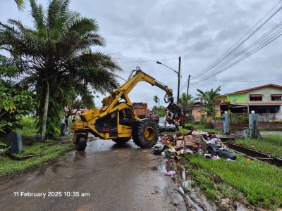
[[[136,122],[133,125],[133,141],[141,148],[151,148],[157,143],[158,137],[157,125],[152,120]]]

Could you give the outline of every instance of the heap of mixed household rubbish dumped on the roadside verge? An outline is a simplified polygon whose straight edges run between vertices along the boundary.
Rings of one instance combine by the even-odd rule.
[[[191,130],[187,134],[159,136],[153,153],[176,160],[188,153],[197,153],[212,160],[226,158],[235,161],[236,159],[236,154],[229,150],[216,134],[197,130]]]

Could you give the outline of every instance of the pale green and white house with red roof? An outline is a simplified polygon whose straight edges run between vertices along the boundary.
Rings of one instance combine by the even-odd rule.
[[[226,94],[233,113],[282,113],[282,86],[266,84]]]

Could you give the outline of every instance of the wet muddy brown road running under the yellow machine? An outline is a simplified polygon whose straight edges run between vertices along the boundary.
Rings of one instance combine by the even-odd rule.
[[[85,152],[72,151],[42,170],[1,184],[0,210],[186,210],[178,187],[164,176],[165,160],[151,149],[132,141],[118,146],[98,139],[87,145]],[[65,196],[73,191],[79,196]],[[13,192],[58,193],[42,198]]]

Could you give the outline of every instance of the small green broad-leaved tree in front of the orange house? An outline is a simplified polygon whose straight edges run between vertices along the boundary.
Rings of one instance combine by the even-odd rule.
[[[201,113],[207,113],[207,127],[211,128],[214,127],[212,124],[212,120],[216,117],[216,98],[219,98],[220,94],[219,91],[221,90],[221,87],[217,87],[215,90],[211,89],[209,91],[202,91],[200,89],[197,89],[197,91],[200,94],[197,94],[196,99],[200,99],[200,101],[204,105],[204,109],[200,110]]]

